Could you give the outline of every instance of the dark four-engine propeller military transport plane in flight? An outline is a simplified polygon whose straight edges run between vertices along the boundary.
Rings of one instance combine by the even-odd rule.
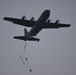
[[[31,20],[26,20],[25,16],[23,16],[21,19],[4,17],[4,20],[11,21],[18,25],[32,27],[29,32],[26,30],[26,28],[24,28],[25,36],[15,36],[15,39],[24,41],[39,41],[40,39],[35,38],[34,36],[36,36],[42,29],[70,27],[70,24],[61,24],[59,23],[59,20],[57,20],[55,23],[51,23],[50,19],[48,19],[49,16],[50,10],[45,10],[37,21],[34,21],[34,18],[31,18]]]

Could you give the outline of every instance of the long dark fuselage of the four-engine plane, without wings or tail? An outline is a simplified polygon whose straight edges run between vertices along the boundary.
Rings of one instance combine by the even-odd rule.
[[[43,23],[46,22],[46,20],[49,18],[50,16],[50,10],[45,10],[41,16],[39,17],[39,19],[37,20],[36,24],[32,27],[32,29],[29,31],[29,36],[35,36],[39,31],[41,31],[42,27],[43,27]]]

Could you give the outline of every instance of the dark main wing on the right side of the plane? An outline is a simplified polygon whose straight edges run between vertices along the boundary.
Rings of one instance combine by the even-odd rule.
[[[60,28],[60,27],[70,27],[71,24],[62,24],[62,23],[44,23],[43,29],[45,28]]]

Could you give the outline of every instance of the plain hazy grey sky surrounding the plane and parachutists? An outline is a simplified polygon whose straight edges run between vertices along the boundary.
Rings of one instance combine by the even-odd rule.
[[[30,73],[20,59],[25,42],[13,39],[24,35],[24,27],[3,18],[26,15],[37,20],[45,9],[51,11],[52,22],[60,19],[71,27],[42,30],[36,36],[39,43],[27,42],[25,63],[33,70]],[[0,75],[76,75],[76,1],[0,0]]]

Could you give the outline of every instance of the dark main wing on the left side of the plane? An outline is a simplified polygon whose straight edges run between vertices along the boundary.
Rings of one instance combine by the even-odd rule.
[[[18,18],[11,18],[11,17],[4,17],[4,20],[13,22],[13,23],[21,25],[21,26],[26,26],[26,27],[33,27],[36,23],[36,21],[18,19]]]

